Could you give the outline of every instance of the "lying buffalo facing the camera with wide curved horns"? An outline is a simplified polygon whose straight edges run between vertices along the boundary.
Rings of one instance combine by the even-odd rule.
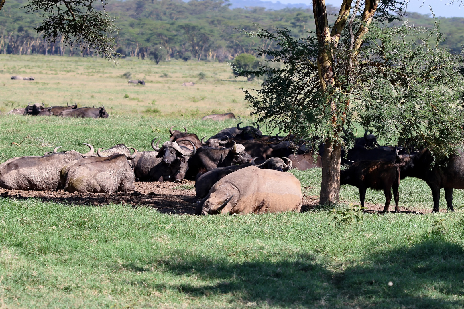
[[[187,158],[193,156],[197,149],[192,142],[193,151],[185,145],[177,145],[176,142],[165,142],[161,148],[155,140],[151,146],[155,151],[141,151],[135,156],[134,164],[135,177],[142,181],[169,181],[180,182],[185,177],[188,170]]]

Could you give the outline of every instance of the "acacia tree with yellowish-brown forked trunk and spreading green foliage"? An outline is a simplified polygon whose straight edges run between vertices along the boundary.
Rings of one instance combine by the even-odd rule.
[[[359,123],[388,141],[409,139],[438,158],[463,139],[463,78],[460,57],[440,47],[433,29],[385,26],[400,18],[402,1],[344,0],[332,27],[324,0],[313,0],[316,33],[294,39],[290,30],[248,33],[274,40],[278,49],[258,49],[262,63],[243,75],[267,80],[245,99],[259,122],[324,143],[320,204],[336,203],[344,131]],[[351,12],[351,14],[350,14]],[[350,145],[351,144],[351,145]]]

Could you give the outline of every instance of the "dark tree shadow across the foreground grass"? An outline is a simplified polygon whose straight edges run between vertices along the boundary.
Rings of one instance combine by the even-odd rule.
[[[461,246],[427,238],[393,250],[372,252],[374,247],[366,246],[366,251],[371,248],[366,259],[340,272],[329,270],[310,255],[242,264],[204,256],[164,260],[161,269],[183,278],[175,283],[153,282],[148,288],[178,290],[200,298],[226,294],[229,301],[285,308],[464,306]]]

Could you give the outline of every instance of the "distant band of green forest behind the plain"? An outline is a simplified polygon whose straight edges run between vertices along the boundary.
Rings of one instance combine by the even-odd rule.
[[[25,4],[26,0],[8,0],[0,11],[0,53],[93,56],[91,50],[79,46],[64,47],[59,41],[47,44],[32,30],[40,25],[40,16],[25,13],[20,8]],[[156,62],[171,58],[224,61],[243,52],[253,54],[258,46],[268,48],[273,42],[240,31],[256,30],[253,23],[268,30],[286,27],[294,37],[307,36],[307,31],[315,29],[311,10],[230,9],[222,0],[113,0],[107,10],[118,17],[116,25],[121,29],[116,50],[126,57],[149,57]],[[337,13],[334,7],[328,10]],[[433,19],[426,15],[412,13],[407,20],[414,26],[433,26]],[[464,43],[464,18],[442,18],[440,25],[447,35],[444,45],[459,52]]]

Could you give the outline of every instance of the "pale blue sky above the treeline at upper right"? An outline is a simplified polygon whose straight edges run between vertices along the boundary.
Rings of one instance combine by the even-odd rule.
[[[277,0],[271,0],[272,2],[277,2]],[[311,4],[312,0],[279,0],[281,3],[304,3]],[[452,0],[451,0],[452,1]],[[407,6],[408,12],[418,12],[421,14],[429,14],[430,8],[435,15],[442,17],[464,17],[464,6],[461,4],[461,0],[455,0],[454,3],[448,4],[450,0],[409,0]],[[327,4],[333,6],[340,6],[342,0],[325,0]],[[464,1],[463,1],[464,2]]]

